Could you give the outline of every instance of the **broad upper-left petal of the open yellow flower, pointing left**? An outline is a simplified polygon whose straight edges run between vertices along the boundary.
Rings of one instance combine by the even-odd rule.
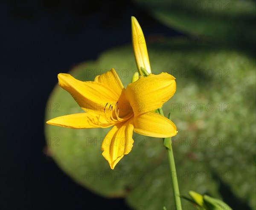
[[[105,104],[115,104],[119,99],[119,91],[110,89],[105,82],[82,82],[62,73],[58,74],[58,80],[59,85],[73,96],[85,112],[103,112]],[[113,77],[110,81],[113,81]]]

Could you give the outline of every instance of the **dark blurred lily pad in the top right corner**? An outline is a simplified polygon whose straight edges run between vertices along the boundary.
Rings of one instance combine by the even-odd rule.
[[[255,0],[135,0],[162,23],[219,46],[256,46]]]

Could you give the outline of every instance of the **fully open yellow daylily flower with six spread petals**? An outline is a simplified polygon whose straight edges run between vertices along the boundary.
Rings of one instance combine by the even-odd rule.
[[[58,81],[85,112],[57,117],[47,124],[75,129],[113,126],[102,142],[102,155],[111,169],[131,151],[133,131],[160,138],[177,134],[172,121],[151,112],[175,93],[175,78],[168,73],[139,78],[126,89],[114,69],[94,81],[79,81],[63,73],[58,74]]]

